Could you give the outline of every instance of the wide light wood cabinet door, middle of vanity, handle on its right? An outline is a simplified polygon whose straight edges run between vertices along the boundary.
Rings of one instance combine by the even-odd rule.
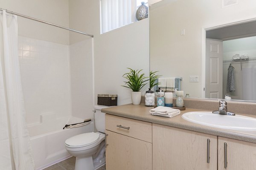
[[[153,170],[217,170],[217,136],[158,124],[152,132]]]

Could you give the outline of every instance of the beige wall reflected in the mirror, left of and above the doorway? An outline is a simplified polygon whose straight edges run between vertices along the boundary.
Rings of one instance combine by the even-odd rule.
[[[165,0],[163,0],[164,2]],[[151,7],[151,69],[164,77],[183,77],[184,94],[201,97],[202,28],[256,17],[256,1],[240,0],[238,5],[222,8],[221,0],[178,0],[158,8]],[[154,13],[154,15],[153,15]],[[180,31],[185,29],[185,35]],[[157,47],[152,50],[152,47]],[[154,64],[163,61],[161,64]],[[198,75],[199,82],[189,82]]]

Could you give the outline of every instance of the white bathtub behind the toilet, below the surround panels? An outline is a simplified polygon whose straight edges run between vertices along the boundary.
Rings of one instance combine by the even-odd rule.
[[[93,132],[93,121],[89,125],[65,128],[66,124],[83,122],[84,119],[65,117],[55,119],[55,114],[41,115],[41,122],[28,125],[35,170],[41,170],[67,159],[70,154],[65,148],[65,140],[80,133]]]

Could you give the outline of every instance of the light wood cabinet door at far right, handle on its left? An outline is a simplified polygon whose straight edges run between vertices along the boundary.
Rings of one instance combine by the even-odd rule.
[[[225,169],[225,150],[227,168]],[[218,137],[218,170],[256,170],[256,144]]]

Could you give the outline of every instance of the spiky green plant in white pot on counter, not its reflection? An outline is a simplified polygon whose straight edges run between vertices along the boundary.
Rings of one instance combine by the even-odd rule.
[[[124,77],[127,81],[125,81],[125,85],[123,87],[130,88],[131,92],[131,100],[133,105],[140,105],[141,100],[141,89],[146,85],[146,81],[148,81],[147,77],[145,77],[144,73],[140,73],[142,70],[134,70],[128,68],[130,71],[125,73],[122,77]]]

